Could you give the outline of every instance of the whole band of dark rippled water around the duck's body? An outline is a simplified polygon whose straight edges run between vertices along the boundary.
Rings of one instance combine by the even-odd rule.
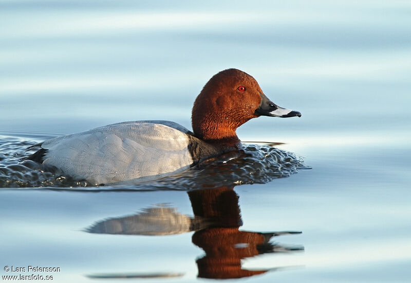
[[[0,137],[0,187],[5,188],[60,188],[81,190],[190,190],[267,183],[288,177],[298,169],[308,169],[304,159],[295,153],[275,147],[245,144],[244,148],[186,170],[179,174],[145,183],[118,186],[91,186],[76,181],[52,166],[23,160],[26,148],[35,144],[16,137]]]

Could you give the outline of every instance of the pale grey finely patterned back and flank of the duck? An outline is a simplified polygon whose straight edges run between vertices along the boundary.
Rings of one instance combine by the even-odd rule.
[[[189,133],[170,121],[117,123],[44,141],[43,163],[93,184],[158,179],[193,164]]]

